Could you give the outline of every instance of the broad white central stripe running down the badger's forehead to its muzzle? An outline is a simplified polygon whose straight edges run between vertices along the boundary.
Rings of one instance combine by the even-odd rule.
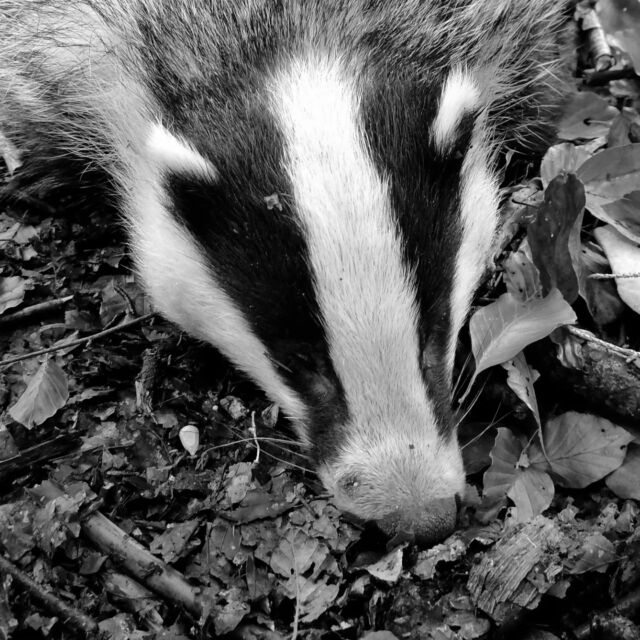
[[[273,87],[331,359],[354,418],[345,447],[362,456],[372,443],[398,439],[390,434],[399,430],[434,443],[418,364],[415,287],[388,184],[357,123],[357,87],[337,62],[323,59],[292,63]]]

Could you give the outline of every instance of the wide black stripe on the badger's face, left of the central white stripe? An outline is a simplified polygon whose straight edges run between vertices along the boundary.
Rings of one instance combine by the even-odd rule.
[[[216,281],[309,408],[312,456],[331,457],[347,409],[329,360],[308,250],[289,199],[239,200],[224,177],[211,184],[168,174],[164,188],[172,214],[201,248]]]

